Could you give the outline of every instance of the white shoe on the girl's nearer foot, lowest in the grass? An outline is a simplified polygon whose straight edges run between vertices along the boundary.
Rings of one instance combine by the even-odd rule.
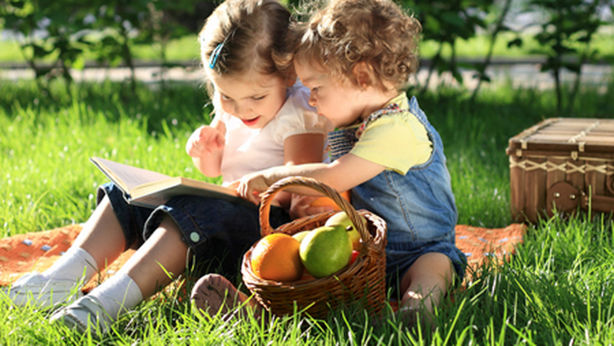
[[[84,296],[76,302],[57,310],[50,317],[51,323],[64,323],[68,328],[74,328],[80,333],[91,331],[106,334],[112,323],[109,314],[94,297]]]

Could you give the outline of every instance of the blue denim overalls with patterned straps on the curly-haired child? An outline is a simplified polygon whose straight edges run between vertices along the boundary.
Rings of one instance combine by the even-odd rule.
[[[411,98],[409,109],[400,109],[398,104],[391,103],[373,112],[358,129],[346,128],[329,133],[331,159],[336,160],[351,151],[370,122],[403,111],[410,111],[426,128],[433,144],[429,160],[410,168],[405,175],[384,170],[365,183],[353,187],[352,206],[357,210],[369,210],[386,221],[386,266],[389,279],[396,281],[402,277],[419,256],[429,252],[448,256],[454,264],[457,278],[462,279],[467,259],[454,245],[457,210],[443,154],[443,143],[426,114],[419,108],[415,97]]]

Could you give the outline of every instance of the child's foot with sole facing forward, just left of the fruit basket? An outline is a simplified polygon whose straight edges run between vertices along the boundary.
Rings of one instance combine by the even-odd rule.
[[[220,313],[224,320],[232,317],[233,312],[246,313],[254,310],[254,317],[260,318],[262,306],[239,291],[227,278],[218,274],[207,274],[196,281],[190,296],[192,304],[203,314],[213,317]],[[239,309],[236,309],[240,307]]]

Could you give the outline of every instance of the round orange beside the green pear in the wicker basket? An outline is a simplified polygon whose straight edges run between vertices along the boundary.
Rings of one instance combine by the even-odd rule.
[[[252,250],[252,272],[265,280],[298,280],[304,269],[298,254],[300,246],[298,240],[287,234],[266,235]]]

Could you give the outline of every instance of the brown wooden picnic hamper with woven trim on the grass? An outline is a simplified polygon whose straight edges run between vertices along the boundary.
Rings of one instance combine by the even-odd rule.
[[[614,211],[614,120],[551,118],[510,138],[511,214]]]

